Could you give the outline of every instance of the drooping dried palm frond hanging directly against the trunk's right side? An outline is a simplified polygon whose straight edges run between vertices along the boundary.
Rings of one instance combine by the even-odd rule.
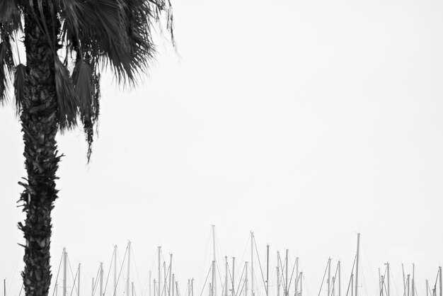
[[[63,132],[76,126],[79,100],[74,92],[74,86],[67,67],[57,56],[55,57],[54,63],[59,127]]]

